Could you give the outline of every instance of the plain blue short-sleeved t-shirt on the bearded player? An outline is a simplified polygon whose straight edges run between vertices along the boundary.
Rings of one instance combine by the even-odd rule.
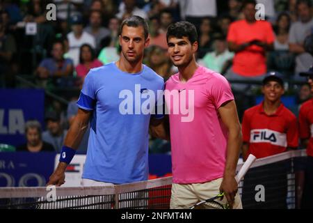
[[[147,180],[148,130],[163,78],[151,68],[129,74],[115,63],[91,69],[77,105],[93,111],[82,178],[106,183]],[[158,110],[159,111],[159,110]]]

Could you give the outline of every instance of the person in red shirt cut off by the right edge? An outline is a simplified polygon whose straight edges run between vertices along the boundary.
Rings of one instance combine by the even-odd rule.
[[[308,72],[300,73],[307,77],[307,82],[313,92],[313,66]],[[305,163],[305,186],[301,208],[313,209],[313,99],[303,103],[299,112],[299,128],[301,143],[307,148]]]

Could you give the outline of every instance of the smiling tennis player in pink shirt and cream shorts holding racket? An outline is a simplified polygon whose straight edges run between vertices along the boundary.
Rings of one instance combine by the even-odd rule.
[[[198,66],[198,33],[189,22],[168,28],[168,54],[179,72],[166,82],[172,146],[170,208],[190,208],[224,192],[220,203],[242,208],[235,179],[241,125],[230,84]],[[205,208],[211,208],[209,203]]]

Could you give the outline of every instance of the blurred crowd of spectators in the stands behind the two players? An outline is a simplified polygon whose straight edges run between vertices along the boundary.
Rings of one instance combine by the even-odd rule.
[[[47,20],[49,3],[56,5],[56,21]],[[275,70],[285,79],[304,83],[305,79],[298,73],[307,71],[313,63],[303,46],[305,37],[313,32],[312,1],[259,0],[257,3],[265,6],[266,21],[253,30],[248,22],[255,17],[254,8],[241,0],[3,0],[0,3],[0,87],[19,87],[15,76],[22,74],[51,91],[60,87],[81,89],[90,68],[118,60],[118,29],[120,22],[130,15],[147,20],[150,47],[146,49],[144,63],[165,80],[177,72],[167,54],[167,28],[172,22],[187,20],[198,29],[198,63],[220,72],[230,82],[258,81],[266,72]],[[37,24],[33,35],[26,33],[29,22]],[[258,38],[264,41],[256,40]],[[261,53],[251,56],[252,51]],[[250,100],[249,96],[254,97],[257,89],[251,88],[251,84],[232,86],[242,114],[253,102],[241,105],[240,98]],[[292,93],[297,100],[290,109],[297,114],[298,106],[312,95],[307,84],[294,89]],[[27,125],[28,129],[37,130],[40,139],[56,151],[60,151],[66,129],[77,112],[75,100],[79,93],[60,96],[70,103],[65,107],[58,100],[49,101],[45,108],[46,132],[41,134],[38,123]],[[25,145],[19,149],[24,150]],[[81,145],[81,152],[84,151],[86,140]],[[151,151],[168,152],[170,145],[154,140]]]

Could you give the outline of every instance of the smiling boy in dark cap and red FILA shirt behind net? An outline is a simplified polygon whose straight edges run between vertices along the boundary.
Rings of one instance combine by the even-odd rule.
[[[284,83],[280,76],[278,72],[266,75],[262,86],[264,101],[243,114],[243,160],[250,153],[262,158],[298,147],[297,119],[280,100],[284,94]],[[259,179],[262,178],[259,182],[252,179],[255,174],[254,169],[251,169],[245,176],[243,208],[287,208],[287,177],[284,167],[281,164],[266,165],[262,173],[258,174]],[[264,185],[265,202],[254,203],[256,185]]]

